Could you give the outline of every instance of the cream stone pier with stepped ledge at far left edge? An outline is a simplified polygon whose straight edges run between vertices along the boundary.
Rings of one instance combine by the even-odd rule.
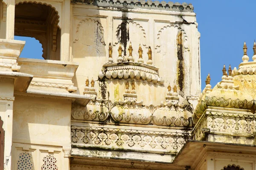
[[[32,75],[17,71],[17,59],[25,45],[24,41],[0,39],[0,116],[5,131],[4,170],[11,170],[12,115],[14,91],[25,91]]]

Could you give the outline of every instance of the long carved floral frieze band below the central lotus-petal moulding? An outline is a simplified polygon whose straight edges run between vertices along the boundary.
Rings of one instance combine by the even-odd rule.
[[[116,129],[104,127],[97,127],[96,130],[93,130],[90,127],[71,126],[72,145],[78,146],[146,149],[148,151],[177,153],[189,138],[189,133],[169,133],[166,136],[165,133],[147,133],[147,130],[119,129],[116,131]]]

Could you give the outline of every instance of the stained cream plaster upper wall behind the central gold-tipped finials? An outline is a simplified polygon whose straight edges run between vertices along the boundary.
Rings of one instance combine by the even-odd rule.
[[[178,85],[178,32],[182,32],[183,40],[183,92],[185,97],[189,97],[196,96],[201,91],[200,53],[198,51],[200,33],[195,22],[195,13],[182,13],[183,19],[191,22],[191,24],[186,25],[182,24],[181,13],[172,11],[134,8],[130,10],[131,12],[124,12],[74,4],[71,11],[73,13],[71,17],[72,28],[70,29],[72,58],[74,62],[80,63],[74,83],[80,94],[83,94],[87,77],[97,80],[102,65],[108,62],[109,43],[112,44],[112,56],[116,62],[119,43],[116,38],[117,27],[122,23],[124,17],[128,18],[129,41],[132,43],[135,61],[138,59],[139,44],[142,45],[144,63],[148,60],[148,47],[151,46],[153,65],[159,68],[159,77],[163,77],[165,80],[164,85],[136,81],[135,90],[138,101],[143,99],[145,105],[159,105],[161,101],[165,100],[168,84],[170,83],[172,88],[174,84]],[[129,44],[126,49],[128,46]],[[123,45],[122,49],[124,50]],[[106,99],[112,101],[123,99],[125,82],[122,80],[107,82],[109,84],[107,91],[110,91],[110,96],[106,94]],[[100,94],[101,90],[97,82],[95,88]],[[148,93],[144,93],[144,91]],[[99,97],[101,96],[99,95]],[[196,100],[196,97],[193,100]],[[193,104],[196,105],[197,103]]]

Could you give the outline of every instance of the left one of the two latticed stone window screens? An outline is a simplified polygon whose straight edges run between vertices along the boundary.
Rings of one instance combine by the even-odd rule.
[[[31,154],[26,152],[20,153],[17,161],[17,170],[34,170]]]

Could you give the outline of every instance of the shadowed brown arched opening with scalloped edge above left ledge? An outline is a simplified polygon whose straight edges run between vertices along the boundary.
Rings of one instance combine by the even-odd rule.
[[[39,3],[19,3],[15,5],[15,36],[33,37],[43,48],[44,59],[60,60],[61,31],[58,27],[58,12],[51,6]],[[31,44],[33,39],[27,39]],[[31,42],[29,42],[31,41]],[[27,49],[28,48],[28,49]],[[33,46],[25,45],[24,50]],[[41,50],[36,55],[26,58],[40,58]]]

